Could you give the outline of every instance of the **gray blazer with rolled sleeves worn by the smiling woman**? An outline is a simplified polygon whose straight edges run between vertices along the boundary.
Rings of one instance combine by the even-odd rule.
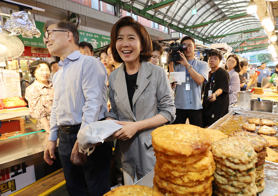
[[[112,117],[119,121],[136,122],[154,117],[164,116],[170,123],[176,118],[173,90],[165,70],[148,62],[142,62],[138,76],[138,89],[133,95],[133,112],[131,111],[126,80],[125,64],[114,70],[109,77],[109,99],[111,110],[105,117]],[[163,126],[163,125],[161,125]],[[135,178],[142,178],[154,169],[156,158],[152,146],[151,132],[156,129],[138,131],[132,138],[117,140],[115,146],[115,160],[125,172]]]

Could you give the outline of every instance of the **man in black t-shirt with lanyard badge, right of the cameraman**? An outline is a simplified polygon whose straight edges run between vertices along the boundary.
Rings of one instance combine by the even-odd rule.
[[[228,113],[229,107],[229,73],[219,66],[222,54],[214,50],[208,54],[208,82],[204,84],[203,128],[212,125]]]

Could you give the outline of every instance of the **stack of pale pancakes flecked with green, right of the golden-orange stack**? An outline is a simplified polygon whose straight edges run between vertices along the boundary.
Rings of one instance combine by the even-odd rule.
[[[252,145],[238,137],[220,139],[211,144],[216,169],[213,193],[217,196],[256,196],[257,153]]]

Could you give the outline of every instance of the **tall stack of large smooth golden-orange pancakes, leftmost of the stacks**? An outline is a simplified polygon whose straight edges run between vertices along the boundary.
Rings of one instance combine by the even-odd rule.
[[[181,124],[157,128],[152,136],[154,189],[167,196],[211,196],[215,163],[209,134]]]

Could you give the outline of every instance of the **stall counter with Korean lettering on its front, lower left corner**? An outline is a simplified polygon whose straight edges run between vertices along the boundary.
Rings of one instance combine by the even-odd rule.
[[[48,136],[46,131],[36,130],[34,123],[28,123],[24,134],[0,140],[1,196],[8,196],[62,168],[58,152],[52,166],[43,159]]]

